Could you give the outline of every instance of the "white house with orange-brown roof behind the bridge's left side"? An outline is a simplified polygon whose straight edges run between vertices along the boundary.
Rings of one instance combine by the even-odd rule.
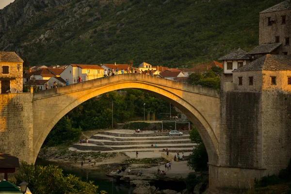
[[[69,84],[77,83],[79,76],[81,77],[81,81],[88,81],[102,78],[104,75],[104,69],[99,65],[71,64],[62,70],[63,72],[60,73],[60,77],[63,80],[67,79],[69,81]]]

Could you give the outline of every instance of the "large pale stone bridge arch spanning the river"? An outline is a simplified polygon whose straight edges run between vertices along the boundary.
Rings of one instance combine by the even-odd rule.
[[[34,161],[50,130],[66,113],[92,97],[126,88],[162,97],[185,113],[202,137],[209,162],[217,163],[220,124],[218,91],[139,74],[123,74],[34,93]]]

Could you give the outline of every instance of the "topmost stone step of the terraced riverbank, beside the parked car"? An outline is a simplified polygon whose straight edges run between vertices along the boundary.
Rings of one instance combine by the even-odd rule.
[[[184,134],[189,134],[189,131],[183,131]],[[146,132],[140,132],[135,133],[134,130],[132,130],[132,133],[117,133],[117,132],[110,132],[110,131],[100,131],[98,134],[104,134],[104,135],[111,135],[115,137],[155,137],[155,136],[169,136],[168,132],[152,132],[148,133]]]

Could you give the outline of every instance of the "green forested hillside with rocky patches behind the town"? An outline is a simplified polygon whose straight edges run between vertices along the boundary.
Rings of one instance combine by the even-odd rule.
[[[15,0],[0,10],[0,50],[30,65],[190,67],[255,47],[259,12],[281,1]]]

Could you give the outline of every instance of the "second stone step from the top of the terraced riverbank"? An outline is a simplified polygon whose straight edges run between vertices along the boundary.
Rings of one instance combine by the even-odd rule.
[[[166,139],[172,139],[172,140],[178,140],[178,139],[189,139],[190,135],[185,134],[182,136],[154,136],[154,137],[116,137],[112,135],[107,134],[95,134],[91,138],[92,139],[98,139],[98,140],[111,140],[111,141],[144,141],[144,140],[166,140]]]

